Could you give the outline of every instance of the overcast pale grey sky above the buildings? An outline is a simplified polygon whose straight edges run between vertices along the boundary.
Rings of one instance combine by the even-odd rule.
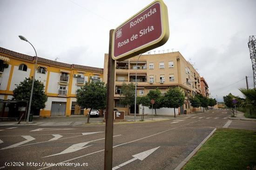
[[[0,0],[0,46],[57,61],[103,68],[108,35],[152,0]],[[256,0],[164,0],[170,37],[157,49],[179,51],[222,101],[253,87],[248,41],[256,35]],[[241,80],[241,81],[240,81]],[[238,82],[238,83],[236,83]],[[217,95],[217,96],[216,96]]]

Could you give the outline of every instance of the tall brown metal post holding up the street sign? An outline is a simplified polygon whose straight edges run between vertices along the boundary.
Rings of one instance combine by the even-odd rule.
[[[107,81],[107,109],[106,109],[106,128],[105,128],[105,155],[104,170],[112,170],[113,155],[113,112],[114,112],[114,91],[115,91],[115,60],[111,58],[112,35],[114,30],[109,31],[108,49],[108,81]]]

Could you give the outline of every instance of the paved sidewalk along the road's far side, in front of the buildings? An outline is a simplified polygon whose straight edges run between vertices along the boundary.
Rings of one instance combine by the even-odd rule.
[[[201,114],[201,112],[196,113]],[[176,118],[185,118],[187,116],[193,116],[193,114],[188,115],[176,115]],[[166,115],[145,115],[144,121],[141,121],[141,115],[136,115],[136,123],[142,122],[155,122],[155,121],[163,121],[169,119],[176,119],[173,115],[166,116]],[[8,126],[8,125],[38,125],[38,126],[77,126],[77,125],[104,125],[103,117],[99,118],[90,118],[90,124],[86,124],[87,116],[79,115],[79,116],[56,116],[56,117],[33,117],[32,122],[26,123],[26,121],[21,121],[18,124],[18,121],[1,121],[0,126]],[[125,121],[121,122],[114,122],[114,124],[122,124],[122,123],[134,123],[134,115],[127,115],[125,116]]]

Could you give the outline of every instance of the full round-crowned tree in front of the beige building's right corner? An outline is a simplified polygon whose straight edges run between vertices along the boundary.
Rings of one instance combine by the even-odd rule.
[[[174,108],[174,117],[176,117],[175,109],[183,105],[184,100],[185,96],[180,88],[169,88],[169,90],[164,94],[163,104],[165,107]]]

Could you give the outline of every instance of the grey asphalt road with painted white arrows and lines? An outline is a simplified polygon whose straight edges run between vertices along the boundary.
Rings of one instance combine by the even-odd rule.
[[[256,122],[229,120],[230,115],[228,110],[211,110],[159,122],[115,124],[113,167],[172,170],[216,127],[256,130]],[[104,131],[104,125],[1,126],[0,170],[103,170]]]

